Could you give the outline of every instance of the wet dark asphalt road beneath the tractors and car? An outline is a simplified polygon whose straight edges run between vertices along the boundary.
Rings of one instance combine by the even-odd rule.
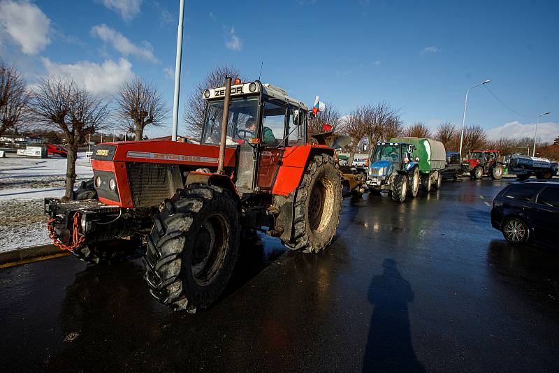
[[[491,228],[508,182],[346,199],[330,248],[265,238],[194,315],[150,298],[140,260],[0,270],[0,371],[557,372],[559,250]]]

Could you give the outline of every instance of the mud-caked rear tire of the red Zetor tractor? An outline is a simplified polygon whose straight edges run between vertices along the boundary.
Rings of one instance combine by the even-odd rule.
[[[327,154],[313,156],[296,191],[293,237],[284,242],[286,247],[318,253],[332,242],[342,209],[340,189],[334,159]]]

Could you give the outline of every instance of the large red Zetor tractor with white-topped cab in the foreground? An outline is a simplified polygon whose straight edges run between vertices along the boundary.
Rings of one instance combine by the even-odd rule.
[[[222,293],[243,236],[263,231],[289,249],[318,253],[331,243],[341,208],[334,151],[307,143],[304,103],[273,85],[231,78],[202,94],[200,144],[103,143],[92,156],[96,198],[45,200],[55,244],[89,263],[144,247],[150,293],[189,312]]]

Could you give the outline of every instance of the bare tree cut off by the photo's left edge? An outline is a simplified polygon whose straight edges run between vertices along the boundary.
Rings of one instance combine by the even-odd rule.
[[[0,136],[8,129],[17,130],[27,114],[29,94],[17,68],[0,60]]]

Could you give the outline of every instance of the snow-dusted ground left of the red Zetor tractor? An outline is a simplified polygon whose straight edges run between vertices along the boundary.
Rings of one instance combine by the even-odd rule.
[[[78,153],[76,184],[93,176],[85,153]],[[0,252],[51,242],[43,198],[64,195],[66,159],[0,158]]]

